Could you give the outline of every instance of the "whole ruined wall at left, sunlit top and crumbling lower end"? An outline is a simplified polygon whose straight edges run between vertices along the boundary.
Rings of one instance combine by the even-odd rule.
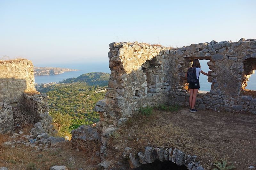
[[[14,128],[12,107],[17,107],[29,110],[30,116],[33,116],[31,123],[40,122],[39,130],[31,131],[35,137],[41,133],[51,134],[53,126],[47,96],[35,89],[32,62],[27,59],[0,61],[0,71],[0,133]]]

